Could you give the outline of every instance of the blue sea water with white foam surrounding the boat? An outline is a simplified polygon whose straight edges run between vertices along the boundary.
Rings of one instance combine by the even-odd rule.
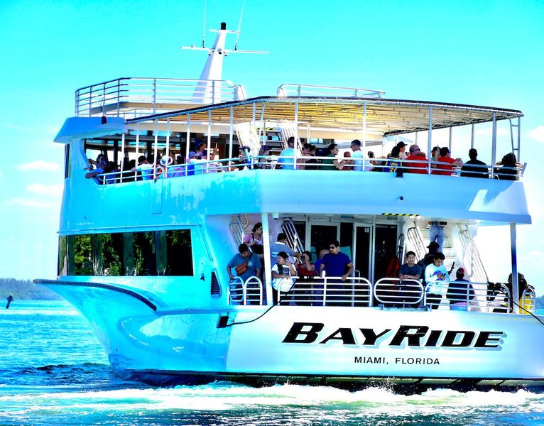
[[[2,307],[0,342],[0,425],[544,425],[544,394],[528,391],[125,381],[66,302]]]

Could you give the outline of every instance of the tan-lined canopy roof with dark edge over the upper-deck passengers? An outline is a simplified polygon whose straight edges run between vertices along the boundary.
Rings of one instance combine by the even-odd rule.
[[[244,101],[225,102],[192,109],[170,111],[163,114],[138,117],[128,123],[154,120],[186,123],[207,122],[212,114],[213,124],[233,124],[252,120],[266,124],[298,121],[312,128],[362,130],[366,108],[366,131],[391,136],[429,129],[432,107],[433,129],[484,123],[493,120],[513,119],[523,116],[516,109],[478,107],[475,105],[438,102],[409,101],[404,99],[379,99],[375,97],[255,97]],[[298,111],[297,111],[298,110]],[[261,115],[262,114],[262,115]],[[296,120],[295,120],[296,118]]]

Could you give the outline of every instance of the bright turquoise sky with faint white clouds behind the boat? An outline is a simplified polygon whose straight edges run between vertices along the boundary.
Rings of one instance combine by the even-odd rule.
[[[207,28],[235,29],[240,8],[241,0],[208,0]],[[73,114],[75,89],[118,77],[197,78],[205,55],[180,46],[200,45],[202,10],[200,0],[0,2],[0,276],[56,274],[63,151],[53,138]],[[544,200],[531,159],[544,148],[543,22],[543,1],[247,0],[239,48],[270,54],[229,55],[223,77],[249,96],[327,84],[521,109],[534,224],[518,227],[518,262],[537,284]],[[207,45],[213,38],[206,33]],[[455,145],[453,155],[467,159]],[[480,250],[503,265],[489,275],[504,280],[508,234],[487,234]]]

